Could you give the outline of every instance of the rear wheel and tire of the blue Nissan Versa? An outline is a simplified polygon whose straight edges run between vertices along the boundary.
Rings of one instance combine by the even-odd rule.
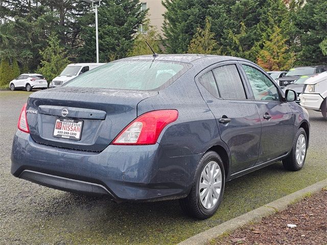
[[[210,173],[207,175],[208,170],[215,171],[215,169],[215,174]],[[201,188],[200,184],[201,187],[206,188]],[[223,161],[216,152],[208,151],[199,161],[189,195],[179,200],[181,209],[189,216],[199,219],[213,216],[221,203],[224,187],[225,171]]]

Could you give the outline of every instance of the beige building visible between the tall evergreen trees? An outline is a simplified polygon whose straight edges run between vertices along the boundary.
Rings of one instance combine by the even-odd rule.
[[[161,0],[141,0],[142,3],[141,10],[148,10],[150,24],[157,28],[158,33],[162,34],[162,23],[164,23],[164,16],[162,14],[165,13],[166,8],[161,4]],[[143,30],[142,25],[140,27],[141,32],[146,32]]]

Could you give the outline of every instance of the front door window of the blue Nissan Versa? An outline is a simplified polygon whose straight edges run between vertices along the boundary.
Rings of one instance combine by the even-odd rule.
[[[249,65],[242,66],[250,82],[255,100],[279,101],[278,89],[263,72]]]

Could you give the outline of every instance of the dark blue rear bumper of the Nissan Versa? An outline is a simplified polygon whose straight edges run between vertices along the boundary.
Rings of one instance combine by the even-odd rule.
[[[185,162],[199,157],[170,158],[158,143],[109,145],[100,153],[62,149],[36,143],[18,130],[11,173],[55,189],[110,195],[114,201],[175,199],[185,197],[191,188],[192,170]]]

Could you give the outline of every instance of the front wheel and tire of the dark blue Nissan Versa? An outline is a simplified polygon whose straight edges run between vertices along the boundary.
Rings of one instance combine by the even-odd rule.
[[[291,152],[283,159],[284,168],[290,171],[300,170],[305,164],[307,149],[307,133],[303,128],[299,128],[295,135]]]

